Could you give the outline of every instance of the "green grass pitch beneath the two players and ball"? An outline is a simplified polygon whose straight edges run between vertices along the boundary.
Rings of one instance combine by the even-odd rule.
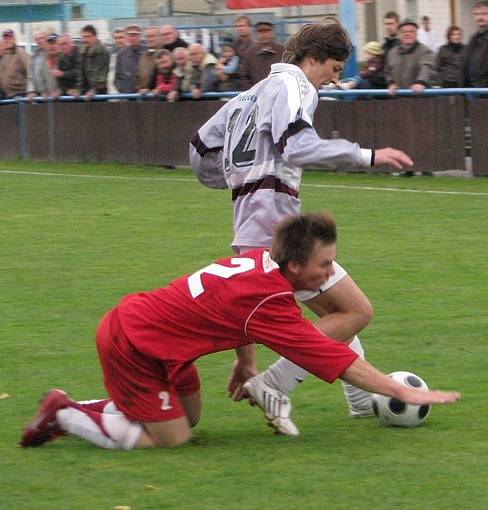
[[[375,306],[367,357],[462,400],[418,429],[384,428],[348,418],[340,386],[310,378],[293,399],[301,435],[278,437],[226,398],[226,352],[198,362],[204,412],[184,447],[18,448],[47,389],[104,396],[105,310],[229,254],[231,202],[188,170],[4,161],[0,509],[487,508],[488,180],[307,172],[302,200],[333,212],[338,260]],[[276,357],[258,356],[260,368]]]

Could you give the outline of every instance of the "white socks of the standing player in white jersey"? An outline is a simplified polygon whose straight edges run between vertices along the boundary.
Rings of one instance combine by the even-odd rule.
[[[364,349],[357,336],[353,338],[349,347],[364,359]],[[286,358],[280,358],[264,372],[264,382],[285,395],[289,395],[308,375],[308,372],[295,365],[295,363]],[[344,381],[341,382],[344,396],[349,406],[349,414],[351,416],[369,416],[370,412],[372,412],[371,393],[356,388]]]

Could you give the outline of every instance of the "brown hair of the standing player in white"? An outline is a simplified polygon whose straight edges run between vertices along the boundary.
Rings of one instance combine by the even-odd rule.
[[[303,25],[288,38],[283,62],[299,64],[306,57],[313,57],[321,63],[328,58],[344,62],[351,51],[351,39],[346,30],[335,19],[326,18]]]

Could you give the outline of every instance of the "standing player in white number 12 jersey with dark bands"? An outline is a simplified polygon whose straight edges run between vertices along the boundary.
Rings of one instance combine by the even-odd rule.
[[[200,182],[211,188],[230,188],[234,204],[237,253],[269,247],[275,225],[300,210],[302,169],[390,165],[411,166],[412,160],[392,148],[365,149],[348,140],[321,139],[313,127],[317,89],[336,82],[351,52],[347,32],[337,22],[303,26],[286,43],[283,62],[273,64],[269,76],[227,102],[192,139],[190,161]],[[364,355],[356,334],[373,311],[363,292],[346,271],[333,274],[315,292],[297,293],[320,319],[317,327],[349,343]],[[253,356],[249,352],[249,356]],[[287,395],[307,373],[280,358],[263,374],[235,373],[229,392],[236,400],[251,395],[278,432],[298,434],[289,419]],[[371,395],[344,385],[351,416],[372,414]]]

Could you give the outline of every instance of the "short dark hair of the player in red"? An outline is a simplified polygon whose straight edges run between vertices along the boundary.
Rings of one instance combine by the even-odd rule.
[[[271,257],[283,270],[288,262],[305,264],[315,249],[317,241],[325,245],[337,241],[337,227],[329,213],[308,213],[291,216],[275,229]]]

